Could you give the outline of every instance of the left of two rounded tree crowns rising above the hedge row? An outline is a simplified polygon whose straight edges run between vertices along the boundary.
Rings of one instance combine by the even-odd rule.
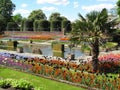
[[[29,19],[32,19],[33,21],[35,20],[41,20],[41,19],[47,19],[47,17],[45,16],[45,14],[43,13],[42,10],[38,9],[38,10],[34,10],[30,13],[30,15],[28,16]]]

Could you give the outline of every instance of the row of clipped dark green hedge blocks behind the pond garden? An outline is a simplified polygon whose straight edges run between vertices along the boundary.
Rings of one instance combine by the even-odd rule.
[[[21,29],[20,29],[21,26]],[[65,21],[48,21],[48,20],[23,20],[21,25],[17,25],[15,22],[9,22],[7,24],[8,31],[71,31],[71,22]]]

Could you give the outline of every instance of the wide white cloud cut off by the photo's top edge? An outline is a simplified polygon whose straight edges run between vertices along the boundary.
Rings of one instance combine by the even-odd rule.
[[[38,4],[54,4],[54,5],[68,5],[70,2],[69,0],[37,0]]]

